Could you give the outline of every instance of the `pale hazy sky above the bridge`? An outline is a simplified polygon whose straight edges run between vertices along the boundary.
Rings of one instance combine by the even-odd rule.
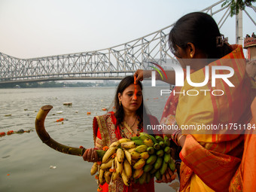
[[[218,0],[0,0],[0,52],[22,59],[100,50],[140,38]],[[256,14],[248,9],[251,17]],[[224,14],[224,12],[222,12]],[[221,15],[214,16],[219,20]],[[256,27],[243,14],[243,36]],[[235,17],[221,32],[235,43]]]

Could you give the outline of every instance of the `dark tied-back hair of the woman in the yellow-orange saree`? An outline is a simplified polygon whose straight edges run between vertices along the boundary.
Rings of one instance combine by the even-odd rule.
[[[169,47],[178,56],[178,47],[184,50],[190,42],[206,54],[206,59],[220,59],[230,53],[231,49],[228,44],[217,47],[218,36],[221,33],[215,20],[209,14],[194,12],[184,15],[175,23],[169,32]]]

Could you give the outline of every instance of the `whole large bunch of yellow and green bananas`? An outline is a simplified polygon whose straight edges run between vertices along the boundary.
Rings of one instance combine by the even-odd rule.
[[[102,157],[102,163],[93,163],[91,175],[96,175],[98,184],[111,184],[118,177],[127,186],[131,181],[148,183],[154,176],[160,180],[169,167],[175,170],[171,158],[170,141],[167,137],[140,133],[131,139],[113,142]]]

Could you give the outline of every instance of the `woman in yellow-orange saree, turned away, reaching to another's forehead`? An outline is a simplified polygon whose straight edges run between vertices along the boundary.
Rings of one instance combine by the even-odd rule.
[[[174,95],[172,91],[166,102],[160,123],[174,123],[180,128],[224,126],[220,131],[172,130],[166,133],[182,147],[180,191],[241,191],[242,175],[238,167],[242,160],[243,128],[232,132],[230,126],[247,126],[251,119],[251,85],[245,73],[242,46],[227,44],[215,20],[200,12],[187,14],[175,23],[169,33],[169,44],[181,67],[192,69],[187,73],[194,83],[205,81],[206,66],[209,74],[219,66],[234,70],[234,75],[228,78],[234,87],[222,79],[217,79],[213,87],[211,75],[202,87],[191,86],[185,78],[184,87],[175,87],[179,94]],[[227,70],[216,73],[228,74]],[[142,75],[136,72],[138,79],[142,79]],[[168,82],[175,84],[174,77],[175,72],[169,72]],[[218,90],[224,94],[216,93]],[[200,94],[190,96],[187,91]]]

